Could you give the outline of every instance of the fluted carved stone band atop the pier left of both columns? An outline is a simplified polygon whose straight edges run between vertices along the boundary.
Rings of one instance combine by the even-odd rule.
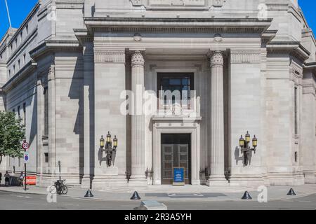
[[[94,62],[125,64],[125,50],[94,50]]]

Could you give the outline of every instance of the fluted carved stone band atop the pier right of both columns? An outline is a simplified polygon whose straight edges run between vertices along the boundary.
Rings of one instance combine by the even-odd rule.
[[[232,50],[230,52],[232,64],[250,63],[258,64],[261,62],[261,51],[253,50]]]

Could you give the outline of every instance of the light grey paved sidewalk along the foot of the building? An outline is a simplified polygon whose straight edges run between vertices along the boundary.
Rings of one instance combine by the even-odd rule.
[[[47,195],[46,188],[28,186],[28,190],[22,187],[4,187],[0,190],[12,193],[29,193]],[[268,201],[291,200],[297,197],[316,194],[316,185],[295,186],[296,196],[288,196],[287,193],[291,187],[270,186],[268,187]],[[157,201],[241,201],[242,195],[249,191],[252,201],[256,201],[260,192],[257,188],[246,187],[207,187],[207,186],[148,186],[147,188],[109,188],[106,190],[93,190],[94,197],[85,198],[84,195],[88,189],[79,187],[69,187],[68,194],[62,197],[76,197],[85,200],[105,200],[105,201],[129,201],[135,190],[138,191],[141,200]]]

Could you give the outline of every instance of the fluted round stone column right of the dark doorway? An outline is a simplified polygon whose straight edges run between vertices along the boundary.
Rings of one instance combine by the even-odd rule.
[[[208,186],[228,183],[224,175],[224,58],[220,51],[211,55],[211,175]]]

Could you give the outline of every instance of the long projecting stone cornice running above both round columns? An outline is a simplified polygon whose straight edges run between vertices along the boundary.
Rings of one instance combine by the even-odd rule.
[[[253,18],[84,18],[88,31],[263,34],[272,20]]]

